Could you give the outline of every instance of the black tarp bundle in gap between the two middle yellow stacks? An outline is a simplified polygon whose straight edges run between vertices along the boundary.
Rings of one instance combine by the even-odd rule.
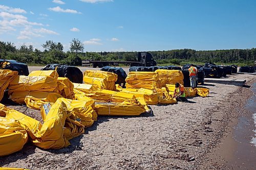
[[[125,86],[125,79],[127,77],[126,72],[121,67],[104,66],[100,68],[101,71],[114,72],[118,78],[115,84],[119,84],[121,87]]]

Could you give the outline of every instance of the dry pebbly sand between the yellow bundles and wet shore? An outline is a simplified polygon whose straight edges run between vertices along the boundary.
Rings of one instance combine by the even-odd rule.
[[[30,68],[31,71],[31,68]],[[255,81],[254,75],[232,75]],[[210,158],[242,115],[251,93],[247,87],[205,84],[208,98],[195,103],[151,106],[151,114],[100,116],[86,134],[59,150],[42,150],[31,143],[0,158],[0,166],[28,169],[223,169]]]

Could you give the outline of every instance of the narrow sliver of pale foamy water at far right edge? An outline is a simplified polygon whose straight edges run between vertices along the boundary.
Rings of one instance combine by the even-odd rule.
[[[252,92],[254,93],[253,96],[251,97],[251,99],[248,101],[248,105],[247,108],[251,111],[253,111],[253,121],[254,121],[254,125],[256,128],[256,83],[252,84]],[[251,143],[254,144],[254,147],[256,147],[256,129],[253,130],[254,132],[254,137],[252,137],[251,139]]]

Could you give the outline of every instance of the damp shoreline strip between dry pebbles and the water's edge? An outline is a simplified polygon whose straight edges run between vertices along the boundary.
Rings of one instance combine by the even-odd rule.
[[[252,79],[247,85],[251,86],[255,82],[255,79]],[[236,110],[235,116],[230,117],[219,142],[205,155],[207,160],[200,163],[201,168],[206,166],[206,169],[249,170],[256,167],[254,161],[256,147],[250,142],[255,134],[253,131],[255,124],[252,118],[253,112],[247,108],[247,103],[253,96],[250,91],[251,87],[242,89],[242,93],[247,92],[249,95],[240,102],[239,106],[233,107]]]

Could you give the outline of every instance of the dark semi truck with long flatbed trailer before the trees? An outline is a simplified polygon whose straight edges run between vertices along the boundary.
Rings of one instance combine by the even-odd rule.
[[[155,66],[157,62],[153,59],[152,55],[148,52],[138,52],[138,61],[93,61],[93,60],[86,60],[82,61],[82,66],[90,66],[93,65],[94,68],[96,67],[104,67],[104,66],[118,66],[119,64],[129,65],[129,66]]]

